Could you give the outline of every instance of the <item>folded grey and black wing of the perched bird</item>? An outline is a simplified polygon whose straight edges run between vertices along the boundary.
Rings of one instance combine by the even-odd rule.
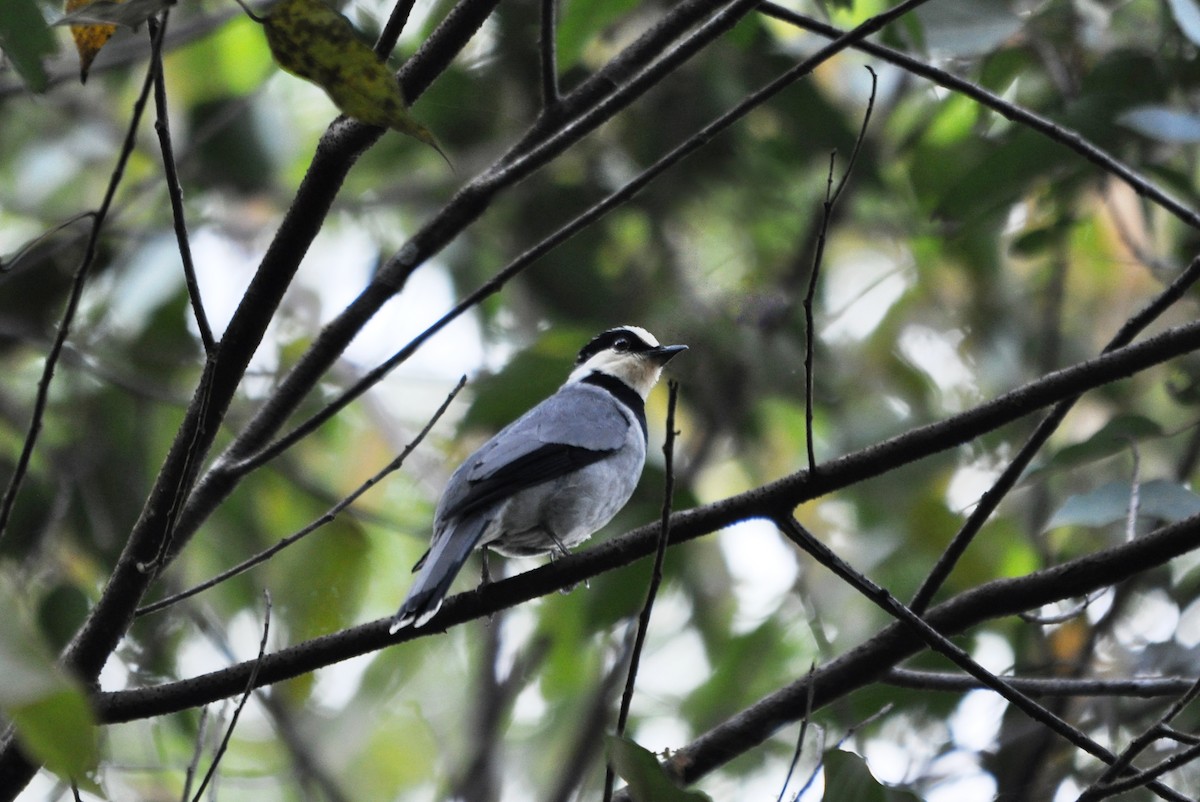
[[[629,418],[607,391],[570,384],[485,443],[455,472],[438,517],[449,520],[578,471],[625,444]]]

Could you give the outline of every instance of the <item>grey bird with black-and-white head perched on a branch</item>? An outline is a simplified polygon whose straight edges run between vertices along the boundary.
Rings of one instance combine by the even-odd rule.
[[[565,555],[611,521],[646,463],[646,397],[686,349],[636,325],[602,331],[553,395],[467,457],[442,492],[391,634],[437,614],[476,546],[505,557]]]

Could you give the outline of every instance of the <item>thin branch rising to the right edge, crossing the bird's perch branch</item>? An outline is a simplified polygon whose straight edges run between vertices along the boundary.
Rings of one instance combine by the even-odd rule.
[[[1160,292],[1150,304],[1147,304],[1140,312],[1126,321],[1124,325],[1114,335],[1109,343],[1104,347],[1102,354],[1112,353],[1120,348],[1126,347],[1133,339],[1142,331],[1147,325],[1150,325],[1156,318],[1158,318],[1163,312],[1165,312],[1171,305],[1180,300],[1188,288],[1200,280],[1200,257],[1192,259],[1192,263],[1187,269],[1181,273],[1175,281],[1166,286],[1163,292]],[[1042,449],[1050,435],[1058,429],[1058,424],[1067,417],[1070,408],[1075,406],[1075,402],[1080,396],[1074,395],[1068,399],[1063,399],[1054,406],[1054,408],[1046,414],[1045,418],[1038,424],[1033,433],[1030,435],[1028,439],[1013,457],[1013,461],[1001,472],[996,481],[992,483],[991,487],[979,498],[979,503],[976,508],[971,510],[971,515],[967,516],[966,522],[962,528],[954,535],[949,545],[942,552],[941,557],[930,569],[929,575],[925,581],[922,582],[920,587],[917,589],[910,606],[918,615],[929,606],[930,602],[934,599],[934,594],[942,586],[946,579],[954,570],[954,565],[958,564],[959,558],[966,551],[967,546],[974,539],[983,525],[991,517],[991,514],[996,511],[1000,502],[1008,495],[1016,483],[1020,480],[1021,474],[1025,468],[1028,467],[1030,462],[1033,461],[1034,455]]]

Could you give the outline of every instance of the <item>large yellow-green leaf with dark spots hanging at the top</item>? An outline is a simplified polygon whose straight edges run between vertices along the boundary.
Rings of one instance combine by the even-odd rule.
[[[324,89],[343,114],[420,139],[445,158],[428,128],[408,113],[388,65],[323,0],[282,0],[263,28],[278,65]]]

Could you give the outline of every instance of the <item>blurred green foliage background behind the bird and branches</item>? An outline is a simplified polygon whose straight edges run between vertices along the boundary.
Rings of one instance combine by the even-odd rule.
[[[89,222],[53,229],[98,204],[145,68],[145,36],[120,31],[97,56],[88,85],[78,85],[65,30],[53,31],[56,56],[32,40],[13,44],[6,25],[28,5],[0,2],[7,55],[0,66],[0,477],[19,454]],[[564,0],[564,90],[671,5]],[[797,7],[848,26],[884,5]],[[449,7],[419,4],[389,64],[414,53]],[[1196,205],[1196,8],[1195,0],[955,0],[931,4],[882,41],[1070,127]],[[46,18],[59,13],[49,5],[42,11]],[[355,0],[342,11],[377,31],[390,7]],[[220,331],[337,110],[319,89],[276,70],[260,28],[229,2],[180,4],[169,30],[187,31],[170,40],[164,70],[200,286]],[[536,4],[503,4],[416,101],[414,114],[454,170],[437,152],[395,134],[359,160],[256,355],[230,426],[246,419],[378,263],[536,119]],[[779,20],[748,17],[502,196],[421,268],[304,413],[822,43]],[[137,58],[122,60],[122,48]],[[43,62],[48,91],[35,98],[29,89],[41,88]],[[878,60],[838,56],[534,264],[466,324],[434,337],[377,390],[242,483],[156,594],[203,581],[322,515],[414,436],[462,372],[475,375],[469,397],[350,513],[247,574],[140,620],[109,660],[104,689],[190,677],[252,657],[264,588],[275,603],[272,648],[390,615],[425,549],[449,472],[557,387],[580,345],[614,324],[641,324],[691,347],[671,365],[683,385],[678,508],[804,468],[802,301],[830,154],[836,179],[866,107],[864,65],[880,73],[878,96],[833,211],[815,293],[818,460],[941,420],[1096,354],[1196,255],[1200,233],[1064,146]],[[29,479],[0,539],[0,576],[20,588],[30,611],[28,632],[12,618],[0,627],[0,660],[16,660],[26,674],[52,671],[46,645],[61,648],[98,597],[199,376],[202,352],[150,125],[139,133],[100,240]],[[1192,295],[1164,322],[1194,317]],[[1198,377],[1200,363],[1181,359],[1087,394],[943,595],[1189,514],[1200,455]],[[659,390],[648,405],[643,481],[601,537],[659,515],[665,406]],[[797,514],[853,565],[898,598],[911,598],[1031,426],[1013,424]],[[1144,505],[1136,532],[1128,533],[1133,481]],[[500,570],[535,564],[512,561]],[[739,525],[673,549],[665,574],[629,730],[636,744],[660,755],[888,623],[766,525]],[[251,704],[233,736],[221,798],[442,798],[462,778],[479,777],[491,779],[480,779],[476,798],[542,800],[564,771],[577,771],[580,798],[595,798],[605,726],[592,711],[623,653],[648,576],[647,564],[635,564],[491,622],[276,687],[266,701]],[[456,588],[474,582],[468,567]],[[1068,623],[998,621],[962,642],[986,665],[1018,674],[1194,674],[1198,593],[1200,563],[1181,559],[1110,591]],[[947,668],[929,656],[912,666]],[[35,724],[50,726],[30,729],[31,744],[61,728],[86,731],[79,692],[65,680],[34,696],[47,706]],[[0,702],[18,724],[29,720],[28,699],[0,693]],[[814,717],[810,737],[824,746],[806,744],[788,788],[800,788],[822,753],[818,778],[830,800],[1055,798],[1093,777],[1092,766],[1043,741],[1024,717],[1003,707],[974,716],[976,704],[972,694],[863,688]],[[613,707],[610,700],[605,710]],[[1079,700],[1067,714],[1120,748],[1160,710],[1146,701]],[[481,711],[498,717],[494,730],[482,729]],[[194,711],[106,728],[90,792],[178,798],[197,740],[211,755],[229,714],[216,705],[205,728]],[[1194,726],[1194,716],[1184,724]],[[482,767],[473,762],[481,732],[496,747]],[[834,749],[851,732],[841,748],[865,762]],[[774,798],[794,736],[796,728],[781,730],[700,790],[713,798]],[[592,755],[586,765],[569,762],[577,743]],[[86,771],[95,760],[90,740],[34,748],[62,774]],[[638,756],[625,768],[634,771]],[[1193,795],[1200,790],[1200,770],[1170,779]],[[821,798],[822,782],[803,798]],[[40,783],[30,798],[56,788],[48,776]],[[487,796],[485,788],[503,795]]]

